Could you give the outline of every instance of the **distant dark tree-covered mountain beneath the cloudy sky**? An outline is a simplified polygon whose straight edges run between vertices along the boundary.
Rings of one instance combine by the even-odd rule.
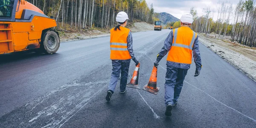
[[[166,12],[155,13],[154,15],[155,17],[159,18],[159,20],[162,21],[164,25],[167,24],[168,22],[176,22],[180,20]]]

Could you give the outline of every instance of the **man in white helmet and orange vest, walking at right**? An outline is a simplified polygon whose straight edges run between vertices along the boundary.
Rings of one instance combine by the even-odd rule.
[[[167,56],[167,71],[165,82],[165,105],[166,116],[172,115],[172,107],[177,104],[183,81],[192,63],[192,52],[196,65],[195,76],[200,74],[201,56],[198,44],[198,35],[189,26],[193,23],[193,16],[189,13],[180,18],[181,27],[170,32],[164,47],[157,55],[157,66],[159,61],[169,52]]]

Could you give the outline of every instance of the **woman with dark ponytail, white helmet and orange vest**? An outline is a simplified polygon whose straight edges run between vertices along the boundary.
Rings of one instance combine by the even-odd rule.
[[[107,101],[111,100],[120,72],[120,92],[125,93],[131,59],[135,62],[136,66],[139,64],[133,52],[131,31],[125,28],[128,20],[128,15],[125,12],[119,12],[116,16],[116,22],[119,24],[110,30],[110,59],[112,60],[113,72],[108,86]]]

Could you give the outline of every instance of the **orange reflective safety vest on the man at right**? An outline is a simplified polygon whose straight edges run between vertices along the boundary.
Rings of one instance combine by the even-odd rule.
[[[179,64],[192,63],[192,49],[197,33],[189,27],[180,27],[173,30],[172,47],[167,56],[167,61]]]

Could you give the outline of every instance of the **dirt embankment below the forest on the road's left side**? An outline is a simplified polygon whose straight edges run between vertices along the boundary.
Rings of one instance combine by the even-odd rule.
[[[131,23],[131,25],[128,25],[127,28],[131,29],[132,32],[140,32],[154,30],[154,25],[145,22],[137,22]],[[110,35],[109,30],[110,29],[93,28],[79,30],[79,32],[60,31],[59,33],[61,42],[66,42],[108,36]]]

